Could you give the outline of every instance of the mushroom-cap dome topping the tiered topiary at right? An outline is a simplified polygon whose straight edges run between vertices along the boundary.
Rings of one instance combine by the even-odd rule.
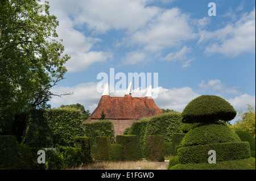
[[[225,99],[215,95],[201,95],[193,99],[181,113],[184,123],[230,121],[237,112]]]

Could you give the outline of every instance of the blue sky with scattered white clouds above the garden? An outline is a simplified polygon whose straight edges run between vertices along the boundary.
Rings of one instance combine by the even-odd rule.
[[[146,75],[159,108],[182,112],[200,95],[221,96],[236,110],[255,106],[255,0],[49,0],[49,6],[71,56],[65,79],[51,91],[73,92],[53,97],[51,107],[80,103],[92,113],[104,88],[99,83],[125,81],[110,92],[123,96],[129,73]],[[134,82],[132,96],[144,96],[148,85]]]

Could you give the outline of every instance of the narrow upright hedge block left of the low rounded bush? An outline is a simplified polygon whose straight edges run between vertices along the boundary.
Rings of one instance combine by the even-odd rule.
[[[111,160],[111,145],[109,137],[97,137],[97,161],[110,161]]]

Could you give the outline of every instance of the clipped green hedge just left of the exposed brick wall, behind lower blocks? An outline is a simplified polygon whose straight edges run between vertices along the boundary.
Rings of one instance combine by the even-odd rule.
[[[114,125],[110,120],[97,120],[92,123],[83,123],[84,135],[92,138],[92,144],[96,144],[96,137],[109,137],[110,142],[114,143]]]

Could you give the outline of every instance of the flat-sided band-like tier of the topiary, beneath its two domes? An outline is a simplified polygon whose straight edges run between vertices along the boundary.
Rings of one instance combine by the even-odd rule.
[[[181,164],[185,163],[208,163],[209,150],[216,151],[216,162],[250,157],[249,142],[224,142],[209,145],[196,145],[181,147],[177,155]]]

